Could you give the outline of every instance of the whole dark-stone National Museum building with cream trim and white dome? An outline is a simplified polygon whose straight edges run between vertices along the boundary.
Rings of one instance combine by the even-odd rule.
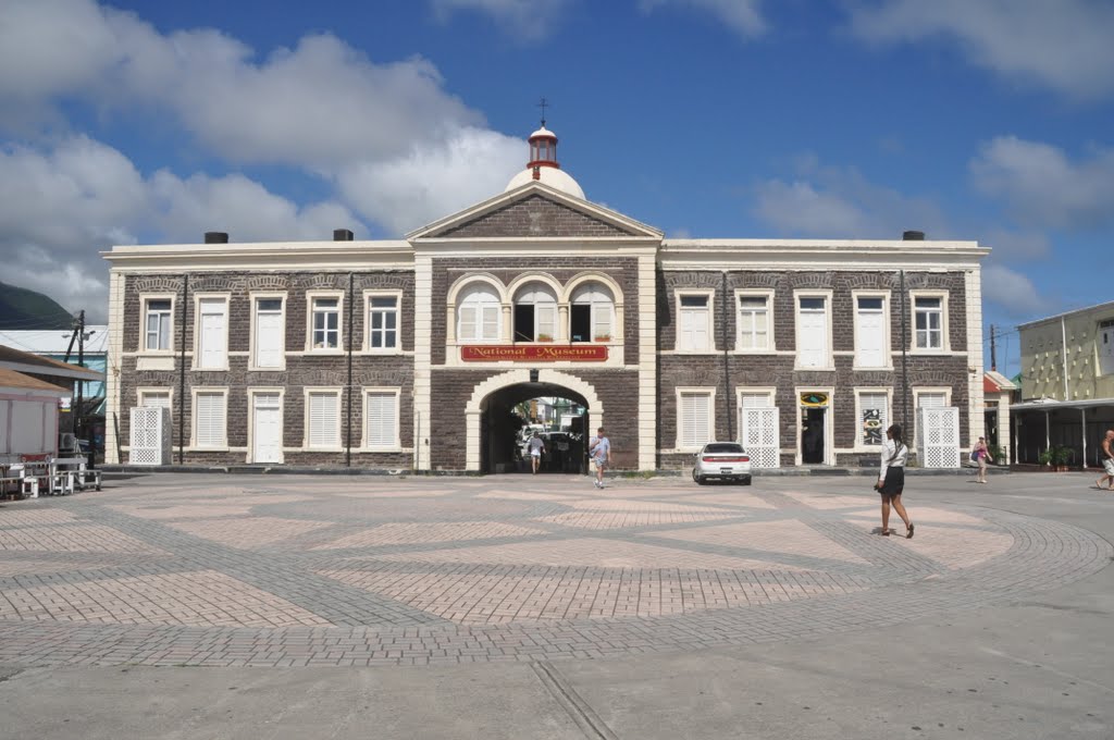
[[[588,201],[543,125],[505,192],[405,238],[106,252],[106,460],[496,473],[512,409],[563,398],[617,469],[713,439],[857,466],[902,418],[924,465],[958,465],[983,434],[988,252],[664,238]]]

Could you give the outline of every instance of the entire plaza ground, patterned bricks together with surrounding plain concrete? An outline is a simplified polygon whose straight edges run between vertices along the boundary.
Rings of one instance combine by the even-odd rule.
[[[872,534],[861,478],[178,475],[6,505],[0,737],[1108,738],[1091,479],[911,479],[912,541]]]

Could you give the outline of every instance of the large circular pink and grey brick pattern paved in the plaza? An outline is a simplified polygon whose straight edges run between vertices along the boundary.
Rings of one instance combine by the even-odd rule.
[[[812,484],[814,486],[814,484]],[[1101,537],[804,479],[149,476],[0,507],[0,662],[592,658],[812,637],[1084,577]],[[900,527],[900,520],[893,522]]]

